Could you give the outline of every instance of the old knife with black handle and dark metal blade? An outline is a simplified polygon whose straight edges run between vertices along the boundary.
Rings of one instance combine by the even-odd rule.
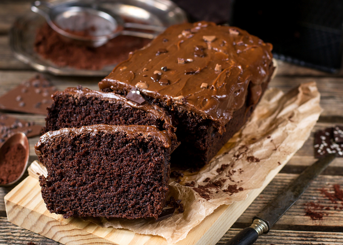
[[[284,191],[280,192],[253,218],[253,224],[250,227],[243,229],[225,245],[252,245],[258,236],[268,233],[276,221],[304,193],[311,181],[334,159],[335,154],[330,154],[308,166]]]

